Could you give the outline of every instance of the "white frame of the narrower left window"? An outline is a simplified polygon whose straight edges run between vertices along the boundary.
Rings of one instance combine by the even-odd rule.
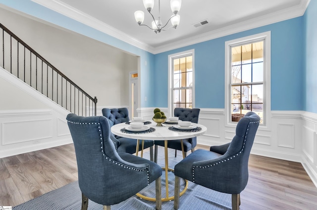
[[[192,87],[192,107],[195,107],[195,50],[189,50],[184,52],[178,52],[175,54],[168,55],[168,113],[170,116],[174,116],[174,110],[173,110],[173,59],[179,58],[179,57],[185,57],[192,55],[192,68],[193,68],[193,87]]]

